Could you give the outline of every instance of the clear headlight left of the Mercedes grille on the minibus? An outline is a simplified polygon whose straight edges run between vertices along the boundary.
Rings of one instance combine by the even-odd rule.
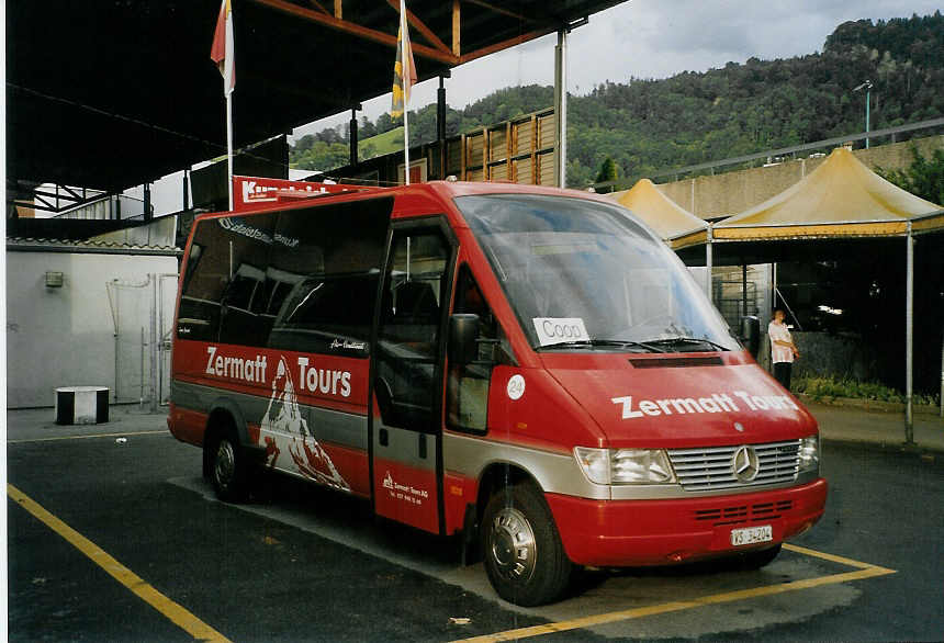
[[[577,447],[574,458],[587,478],[598,485],[667,484],[675,482],[662,449],[591,449]]]

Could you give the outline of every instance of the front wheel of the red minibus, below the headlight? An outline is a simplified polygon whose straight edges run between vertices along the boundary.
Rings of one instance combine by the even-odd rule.
[[[531,484],[495,493],[482,520],[485,572],[498,596],[532,607],[558,599],[570,584],[572,563],[551,510]]]

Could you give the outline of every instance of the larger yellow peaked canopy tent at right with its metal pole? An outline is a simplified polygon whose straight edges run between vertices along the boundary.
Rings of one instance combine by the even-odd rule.
[[[710,255],[712,242],[724,241],[903,237],[907,248],[906,440],[911,442],[914,237],[935,232],[944,232],[944,207],[886,181],[849,149],[840,147],[798,183],[710,227],[708,252]]]

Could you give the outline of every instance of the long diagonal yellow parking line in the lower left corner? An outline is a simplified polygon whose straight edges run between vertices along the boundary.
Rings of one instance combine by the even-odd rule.
[[[173,624],[183,629],[188,634],[198,641],[229,643],[226,636],[148,585],[141,576],[119,563],[95,543],[49,514],[38,503],[9,483],[7,484],[7,494],[41,522],[44,522],[49,529],[66,539],[66,541],[82,552],[99,567],[108,572],[115,580],[127,587],[138,598],[170,619]]]

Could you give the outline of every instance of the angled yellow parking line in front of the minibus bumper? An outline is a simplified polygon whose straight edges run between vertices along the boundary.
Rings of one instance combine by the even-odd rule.
[[[605,625],[607,623],[614,623],[617,621],[627,621],[631,619],[640,619],[643,617],[651,617],[655,614],[664,614],[668,612],[676,612],[686,609],[693,609],[696,607],[705,607],[707,605],[720,605],[723,602],[733,602],[737,600],[745,600],[749,598],[757,598],[761,596],[774,596],[776,594],[786,594],[787,591],[797,591],[799,589],[810,589],[812,587],[820,587],[822,585],[834,585],[836,583],[847,583],[850,580],[861,580],[863,578],[872,578],[874,576],[885,576],[887,574],[895,574],[895,569],[888,569],[886,567],[879,567],[877,565],[869,565],[868,563],[859,563],[858,561],[852,561],[850,559],[843,559],[842,556],[834,556],[832,554],[824,554],[822,552],[817,552],[813,550],[808,550],[806,548],[784,544],[785,549],[793,550],[795,552],[817,556],[820,559],[824,559],[827,561],[832,561],[835,563],[842,563],[845,565],[850,565],[852,567],[858,567],[856,572],[844,572],[842,574],[832,574],[830,576],[819,576],[817,578],[805,578],[802,580],[791,580],[789,583],[782,583],[778,585],[767,585],[765,587],[754,587],[751,589],[740,589],[737,591],[726,591],[723,594],[712,594],[709,596],[701,596],[699,598],[693,598],[692,600],[679,600],[672,602],[663,602],[660,605],[651,605],[647,607],[639,607],[622,611],[608,612],[604,614],[596,614],[591,617],[583,617],[580,619],[572,619],[569,621],[559,621],[557,623],[546,623],[543,625],[532,625],[530,628],[519,628],[517,630],[507,630],[505,632],[497,632],[495,634],[485,634],[484,636],[474,636],[471,639],[461,639],[460,641],[465,642],[474,642],[474,643],[491,643],[494,641],[512,641],[517,639],[528,639],[530,636],[541,636],[543,634],[551,634],[554,632],[566,632],[570,630],[580,630],[583,628],[593,628],[596,625]],[[458,641],[453,641],[453,643],[459,643]]]

